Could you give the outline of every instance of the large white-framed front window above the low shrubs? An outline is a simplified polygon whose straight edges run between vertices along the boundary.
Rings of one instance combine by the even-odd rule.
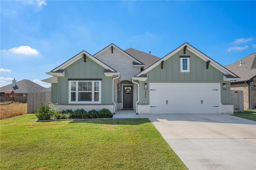
[[[101,103],[101,81],[69,81],[68,103]]]

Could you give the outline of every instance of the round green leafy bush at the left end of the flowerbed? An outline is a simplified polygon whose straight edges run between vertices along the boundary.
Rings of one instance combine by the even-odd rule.
[[[41,103],[39,107],[36,108],[36,118],[40,120],[49,120],[52,116],[54,116],[53,106],[46,106],[44,103]]]

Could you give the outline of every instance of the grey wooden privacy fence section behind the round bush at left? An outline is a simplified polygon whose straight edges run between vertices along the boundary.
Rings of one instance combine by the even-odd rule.
[[[51,92],[28,93],[28,113],[36,113],[36,107],[41,103],[47,104],[51,102]]]

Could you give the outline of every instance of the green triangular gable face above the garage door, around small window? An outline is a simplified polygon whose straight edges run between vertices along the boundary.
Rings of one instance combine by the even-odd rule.
[[[150,82],[220,82],[223,81],[223,73],[216,67],[209,65],[206,69],[206,61],[196,54],[186,50],[186,56],[190,56],[190,71],[180,71],[180,56],[184,55],[183,49],[156,65],[148,71]]]

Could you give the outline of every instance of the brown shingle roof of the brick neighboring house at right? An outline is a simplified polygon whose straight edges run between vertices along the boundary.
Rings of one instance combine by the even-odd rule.
[[[227,65],[226,68],[241,77],[239,81],[235,81],[236,83],[241,81],[253,81],[253,78],[256,77],[256,53],[247,55],[241,59],[241,62],[242,64],[240,64],[240,60],[238,60]]]

